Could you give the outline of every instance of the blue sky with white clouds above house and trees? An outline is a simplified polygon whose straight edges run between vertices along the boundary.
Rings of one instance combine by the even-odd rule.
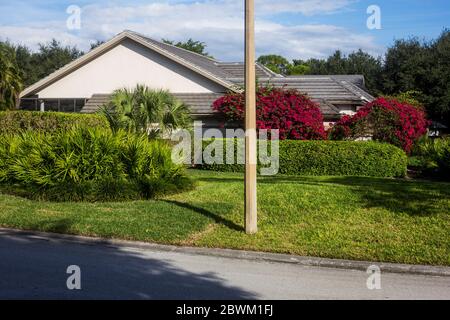
[[[155,39],[204,41],[221,60],[242,60],[243,0],[0,0],[0,39],[36,48],[56,38],[87,49],[124,29]],[[69,30],[70,5],[81,29]],[[381,30],[369,30],[367,8],[381,9]],[[448,0],[256,0],[257,53],[326,57],[340,49],[382,54],[394,39],[432,39],[450,28]]]

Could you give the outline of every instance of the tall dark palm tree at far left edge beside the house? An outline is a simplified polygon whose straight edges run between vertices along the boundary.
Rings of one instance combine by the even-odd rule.
[[[22,79],[15,53],[0,45],[0,110],[12,110],[17,106]]]

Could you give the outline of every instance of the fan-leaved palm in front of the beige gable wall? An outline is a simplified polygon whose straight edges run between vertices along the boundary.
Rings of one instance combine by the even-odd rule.
[[[166,90],[153,90],[143,85],[133,90],[116,90],[111,102],[103,106],[100,113],[114,131],[148,132],[151,136],[188,128],[192,123],[187,105]]]

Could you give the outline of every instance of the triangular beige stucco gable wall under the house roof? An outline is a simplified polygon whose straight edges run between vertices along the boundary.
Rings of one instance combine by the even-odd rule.
[[[226,90],[211,80],[131,40],[38,92],[39,98],[90,98],[144,84],[173,93]]]

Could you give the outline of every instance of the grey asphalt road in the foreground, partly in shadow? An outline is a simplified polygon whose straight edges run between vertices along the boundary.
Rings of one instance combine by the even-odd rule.
[[[67,268],[81,270],[68,290]],[[1,299],[450,299],[450,277],[362,271],[48,241],[0,234]]]

